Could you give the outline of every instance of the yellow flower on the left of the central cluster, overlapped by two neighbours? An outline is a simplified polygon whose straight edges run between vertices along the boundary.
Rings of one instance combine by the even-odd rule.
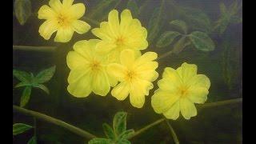
[[[110,91],[110,86],[115,86],[117,81],[106,73],[108,59],[95,52],[98,39],[79,41],[73,46],[66,56],[67,66],[70,68],[67,90],[74,97],[87,97],[92,91],[94,94],[105,96]]]

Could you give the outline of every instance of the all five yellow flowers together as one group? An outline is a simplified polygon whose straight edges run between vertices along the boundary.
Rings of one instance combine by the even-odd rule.
[[[90,25],[78,20],[85,13],[82,3],[74,0],[50,0],[49,6],[42,6],[38,18],[46,19],[39,28],[39,34],[49,39],[57,31],[55,42],[70,41],[74,31],[84,34]],[[91,92],[106,96],[110,92],[118,100],[130,95],[130,103],[141,108],[145,96],[153,89],[158,78],[158,54],[140,50],[148,47],[147,31],[138,19],[132,18],[130,10],[111,10],[108,22],[101,22],[99,28],[91,30],[100,39],[76,42],[74,51],[67,54],[66,62],[70,68],[67,90],[74,97],[84,98]],[[167,67],[159,89],[151,98],[151,104],[158,114],[177,119],[179,112],[186,119],[197,114],[194,103],[206,102],[210,80],[197,74],[197,66],[186,62],[177,70]]]

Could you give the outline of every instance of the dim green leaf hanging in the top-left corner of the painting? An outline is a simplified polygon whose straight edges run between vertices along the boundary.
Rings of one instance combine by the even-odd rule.
[[[15,16],[21,25],[24,25],[26,20],[30,18],[31,2],[30,0],[15,0],[14,2]]]

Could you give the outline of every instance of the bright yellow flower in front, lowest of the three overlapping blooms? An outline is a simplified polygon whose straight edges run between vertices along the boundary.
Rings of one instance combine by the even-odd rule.
[[[154,52],[138,56],[134,50],[122,50],[121,63],[110,63],[107,66],[107,72],[120,82],[111,94],[120,101],[130,94],[131,105],[141,108],[145,102],[145,95],[154,87],[152,82],[158,78],[155,71],[158,62],[154,62],[157,57],[158,54]]]

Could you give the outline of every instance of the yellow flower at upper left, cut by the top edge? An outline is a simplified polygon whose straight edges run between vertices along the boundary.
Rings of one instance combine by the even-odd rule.
[[[38,10],[38,18],[46,19],[39,27],[39,34],[46,40],[57,31],[55,42],[69,42],[76,31],[84,34],[90,30],[90,25],[78,20],[85,14],[86,7],[82,3],[72,5],[74,0],[50,0],[49,6],[42,6]]]

